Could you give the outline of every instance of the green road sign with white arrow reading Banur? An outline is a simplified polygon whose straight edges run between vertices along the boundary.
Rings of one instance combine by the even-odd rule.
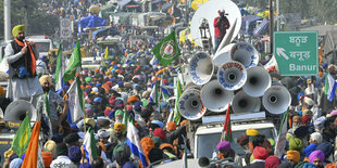
[[[317,33],[274,33],[274,55],[282,76],[317,75]]]

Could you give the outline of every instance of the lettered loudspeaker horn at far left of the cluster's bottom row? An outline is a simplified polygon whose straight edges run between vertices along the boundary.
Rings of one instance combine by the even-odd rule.
[[[202,105],[198,90],[185,91],[179,98],[178,105],[182,116],[189,120],[201,118],[207,111]]]

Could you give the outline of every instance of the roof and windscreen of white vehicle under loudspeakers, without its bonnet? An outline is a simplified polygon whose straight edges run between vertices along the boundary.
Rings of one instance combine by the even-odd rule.
[[[216,150],[216,145],[221,140],[223,121],[225,116],[205,116],[202,118],[202,125],[199,126],[195,132],[194,158],[212,157],[212,153]],[[246,134],[246,130],[251,128],[258,130],[266,139],[277,139],[276,127],[272,120],[265,119],[265,113],[251,114],[232,114],[232,135],[233,143],[230,147],[238,156],[244,156],[244,148],[236,142],[238,138]]]

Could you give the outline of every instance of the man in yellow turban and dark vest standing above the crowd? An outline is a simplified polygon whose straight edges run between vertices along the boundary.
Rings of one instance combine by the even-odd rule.
[[[34,42],[26,41],[25,26],[17,25],[12,29],[14,40],[4,49],[4,56],[9,63],[8,98],[15,100],[30,100],[36,105],[36,98],[43,90],[36,76],[36,60],[39,53],[34,50]]]

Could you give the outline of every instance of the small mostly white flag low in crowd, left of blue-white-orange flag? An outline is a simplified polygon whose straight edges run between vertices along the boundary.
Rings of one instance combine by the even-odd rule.
[[[91,127],[87,130],[83,141],[83,150],[85,151],[86,158],[92,165],[93,159],[97,158],[96,139]]]

